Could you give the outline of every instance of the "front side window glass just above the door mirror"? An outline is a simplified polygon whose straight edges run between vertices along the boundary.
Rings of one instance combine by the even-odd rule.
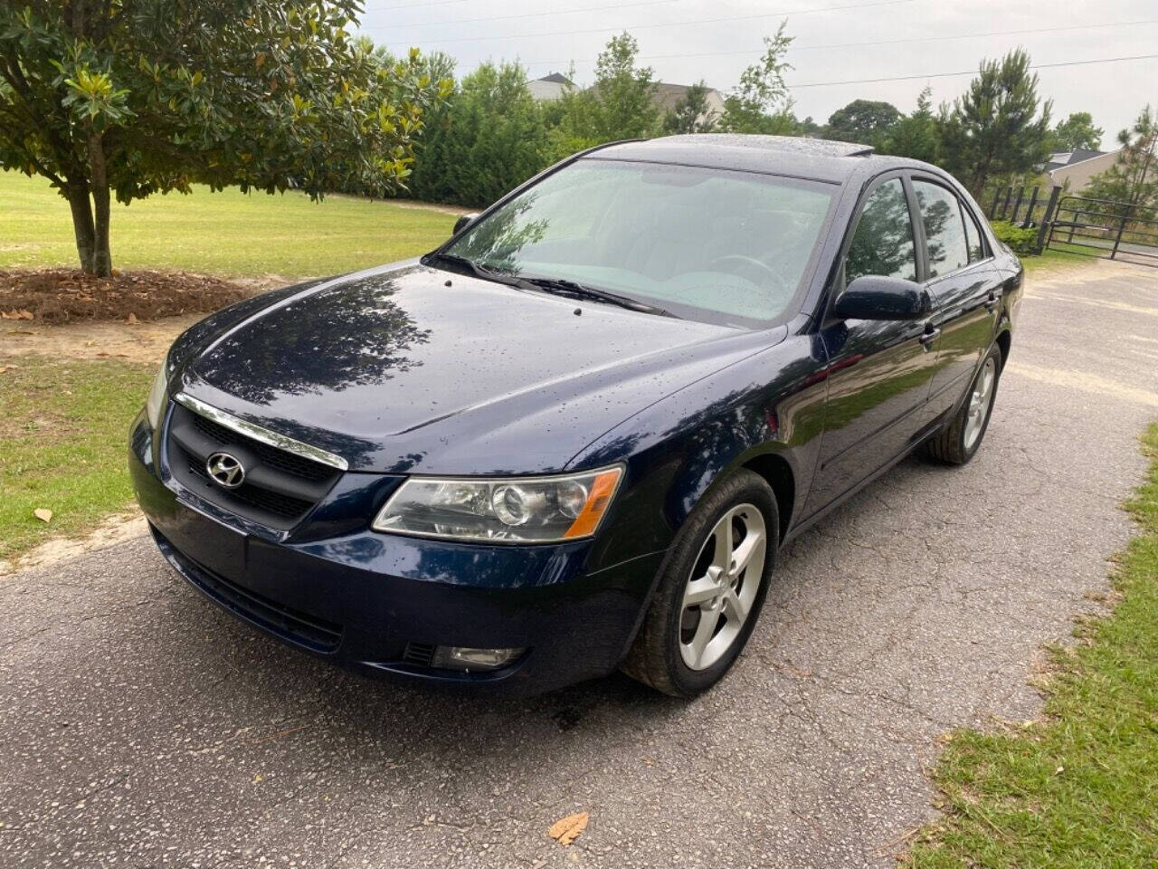
[[[844,258],[844,280],[852,283],[865,275],[917,279],[913,220],[900,178],[886,181],[873,190],[860,212]]]

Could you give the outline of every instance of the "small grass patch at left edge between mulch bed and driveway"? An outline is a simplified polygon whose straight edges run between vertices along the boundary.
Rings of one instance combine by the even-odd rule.
[[[129,423],[153,368],[123,362],[0,358],[0,558],[83,534],[132,497]],[[46,507],[43,523],[32,511]]]

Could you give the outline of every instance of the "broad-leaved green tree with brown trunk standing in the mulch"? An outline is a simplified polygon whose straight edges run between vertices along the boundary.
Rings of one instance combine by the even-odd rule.
[[[382,64],[357,0],[27,0],[0,6],[0,168],[68,200],[108,276],[110,198],[213,189],[386,193],[450,85]]]

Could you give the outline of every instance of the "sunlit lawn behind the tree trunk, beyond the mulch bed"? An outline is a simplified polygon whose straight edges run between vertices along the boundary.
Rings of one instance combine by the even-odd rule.
[[[112,212],[117,269],[185,270],[225,277],[317,277],[426,253],[455,217],[345,196],[298,192],[153,196]],[[0,269],[76,266],[66,203],[43,178],[0,171]]]

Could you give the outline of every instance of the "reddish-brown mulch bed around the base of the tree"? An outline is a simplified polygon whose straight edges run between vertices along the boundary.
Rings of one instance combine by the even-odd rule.
[[[68,269],[0,270],[0,319],[8,321],[138,322],[208,313],[252,294],[251,287],[183,271],[124,271],[94,278]]]

